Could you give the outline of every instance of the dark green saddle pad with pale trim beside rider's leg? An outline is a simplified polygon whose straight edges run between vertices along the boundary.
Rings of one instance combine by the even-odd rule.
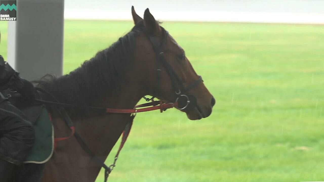
[[[33,126],[35,130],[35,143],[24,163],[42,164],[52,157],[54,151],[54,131],[49,113],[44,106]]]

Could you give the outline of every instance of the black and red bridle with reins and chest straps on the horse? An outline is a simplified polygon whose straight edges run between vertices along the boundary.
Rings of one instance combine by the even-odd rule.
[[[162,46],[167,40],[168,31],[166,31],[164,28],[161,27],[162,30],[163,30],[163,41],[161,43],[159,43],[158,39],[155,36],[147,33],[143,28],[136,28],[136,27],[137,27],[137,25],[135,25],[135,27],[132,29],[132,31],[135,30],[135,29],[137,29],[139,31],[144,31],[145,34],[147,35],[147,37],[149,38],[149,40],[151,41],[151,44],[153,46],[153,50],[154,50],[154,52],[156,54],[156,86],[155,86],[155,90],[153,92],[152,98],[143,97],[146,101],[151,100],[152,102],[137,105],[137,106],[134,107],[134,109],[113,109],[113,108],[98,108],[98,107],[81,107],[81,106],[72,105],[72,104],[60,103],[48,91],[46,91],[46,90],[44,90],[42,88],[38,88],[38,87],[35,88],[36,90],[38,90],[38,91],[46,94],[47,96],[49,96],[52,100],[54,100],[54,102],[53,101],[41,100],[41,99],[35,99],[35,101],[41,102],[41,103],[44,103],[44,104],[59,106],[59,107],[57,107],[58,114],[66,122],[67,126],[71,129],[70,136],[63,137],[63,138],[55,138],[54,146],[56,146],[56,142],[66,140],[66,139],[68,139],[68,138],[70,138],[72,136],[75,136],[75,139],[80,144],[80,146],[91,156],[91,158],[93,158],[94,161],[96,161],[99,165],[101,165],[105,169],[105,173],[104,173],[104,181],[105,182],[107,181],[107,178],[108,178],[109,174],[111,173],[111,171],[113,170],[113,168],[116,166],[116,161],[118,159],[118,155],[119,155],[124,143],[127,140],[128,135],[129,135],[129,133],[131,131],[131,127],[132,127],[132,124],[133,124],[133,119],[134,119],[136,113],[145,112],[145,111],[151,111],[151,110],[157,110],[157,109],[159,109],[160,112],[163,112],[164,110],[166,110],[168,108],[173,108],[173,107],[176,107],[179,110],[184,110],[184,109],[188,109],[188,108],[197,107],[196,97],[194,97],[191,94],[185,94],[185,93],[188,90],[190,90],[191,88],[197,86],[200,82],[203,82],[202,77],[199,76],[198,80],[194,81],[192,84],[190,84],[188,86],[184,86],[183,83],[181,82],[179,76],[173,70],[171,65],[166,61]],[[164,68],[166,69],[166,71],[167,71],[167,73],[168,73],[168,75],[169,75],[169,77],[171,79],[171,84],[172,84],[173,90],[174,90],[175,95],[176,95],[176,99],[175,99],[174,103],[163,103],[162,101],[154,101],[155,96],[158,96],[159,92],[161,90],[161,71],[162,71],[161,65],[164,66]],[[183,104],[181,104],[181,102]],[[152,107],[147,107],[147,106],[152,106]],[[137,109],[139,107],[146,107],[146,108]],[[64,108],[78,108],[78,109],[83,109],[83,110],[86,110],[86,111],[95,111],[95,112],[102,112],[102,113],[133,113],[130,116],[130,119],[129,119],[128,123],[126,124],[126,127],[125,127],[125,129],[124,129],[124,131],[122,133],[122,139],[121,139],[120,147],[119,147],[119,149],[117,151],[117,154],[115,155],[114,162],[111,165],[107,166],[106,164],[104,164],[89,149],[87,144],[83,141],[82,137],[75,131],[75,127],[74,127],[74,125],[72,123],[72,120],[70,119],[70,117],[68,116],[68,114],[67,114],[67,112],[65,111]]]

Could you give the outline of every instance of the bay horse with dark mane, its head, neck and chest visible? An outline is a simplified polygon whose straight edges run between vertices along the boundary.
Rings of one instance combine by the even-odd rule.
[[[144,19],[132,6],[135,26],[109,48],[99,51],[79,68],[61,77],[45,76],[39,87],[60,102],[116,109],[133,109],[146,95],[166,103],[175,102],[179,93],[194,100],[181,111],[191,120],[208,117],[215,99],[196,74],[184,50],[160,26],[147,8]],[[157,50],[163,51],[163,63]],[[52,114],[55,137],[71,131],[64,120]],[[104,162],[124,130],[130,114],[78,113],[68,110],[75,130]],[[45,164],[42,182],[92,182],[101,166],[79,145],[75,137],[57,143]]]

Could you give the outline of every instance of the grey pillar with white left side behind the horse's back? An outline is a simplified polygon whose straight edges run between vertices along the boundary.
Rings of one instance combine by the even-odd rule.
[[[8,22],[8,62],[27,80],[63,73],[64,0],[17,0]]]

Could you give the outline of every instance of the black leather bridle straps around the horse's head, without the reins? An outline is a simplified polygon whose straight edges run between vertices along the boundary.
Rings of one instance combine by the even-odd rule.
[[[198,80],[194,81],[193,83],[191,83],[190,85],[188,85],[186,87],[183,85],[178,74],[174,71],[174,69],[171,67],[171,65],[165,59],[164,51],[163,51],[162,47],[166,43],[166,40],[167,40],[169,34],[168,34],[168,31],[165,30],[164,28],[161,27],[161,29],[163,32],[163,38],[162,38],[161,43],[158,41],[156,36],[145,31],[145,34],[148,37],[148,39],[150,40],[150,42],[153,46],[153,50],[156,54],[156,85],[155,85],[155,89],[153,91],[152,98],[147,98],[145,96],[143,98],[146,101],[150,101],[150,100],[153,100],[155,98],[155,96],[160,94],[159,92],[161,90],[161,72],[162,72],[161,64],[162,64],[171,79],[171,84],[172,84],[174,93],[176,95],[175,103],[178,103],[180,100],[182,100],[182,98],[186,99],[186,100],[184,100],[185,102],[184,102],[184,104],[182,104],[182,106],[180,106],[181,102],[178,103],[179,105],[177,106],[177,108],[179,110],[184,110],[186,108],[196,107],[196,105],[197,105],[196,97],[194,97],[191,94],[186,95],[185,93],[188,90],[190,90],[191,88],[197,86],[200,82],[203,82],[202,76],[199,75]]]

